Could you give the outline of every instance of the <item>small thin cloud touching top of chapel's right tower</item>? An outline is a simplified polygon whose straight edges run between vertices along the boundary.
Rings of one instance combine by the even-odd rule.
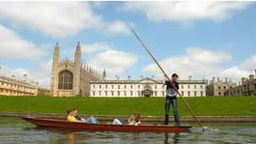
[[[111,46],[107,42],[97,42],[92,45],[81,45],[81,51],[83,53],[93,53],[95,51],[104,51],[111,49]]]

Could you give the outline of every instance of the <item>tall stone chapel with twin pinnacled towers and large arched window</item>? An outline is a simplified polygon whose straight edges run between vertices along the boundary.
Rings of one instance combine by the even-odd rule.
[[[76,46],[75,59],[60,61],[60,47],[56,43],[51,71],[51,95],[52,96],[88,96],[89,82],[100,80],[99,72],[96,72],[88,64],[81,61],[81,46]]]

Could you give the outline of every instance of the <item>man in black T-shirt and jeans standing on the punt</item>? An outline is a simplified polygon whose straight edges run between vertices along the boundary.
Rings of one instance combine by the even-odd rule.
[[[175,126],[179,126],[179,115],[177,110],[177,92],[173,88],[173,85],[175,88],[179,89],[179,83],[176,82],[177,78],[179,76],[176,73],[173,73],[171,82],[168,81],[166,75],[163,77],[163,84],[166,85],[166,101],[165,101],[165,120],[164,125],[168,125],[169,120],[169,109],[170,104],[173,105],[173,115],[175,118]],[[173,84],[172,84],[173,83]]]

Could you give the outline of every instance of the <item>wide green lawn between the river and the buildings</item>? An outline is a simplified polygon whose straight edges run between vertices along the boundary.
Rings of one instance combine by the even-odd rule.
[[[256,115],[256,96],[185,98],[196,115]],[[0,96],[0,112],[66,114],[77,108],[87,115],[164,115],[165,98],[56,98]],[[172,109],[170,109],[172,110]],[[190,115],[178,99],[179,115]]]

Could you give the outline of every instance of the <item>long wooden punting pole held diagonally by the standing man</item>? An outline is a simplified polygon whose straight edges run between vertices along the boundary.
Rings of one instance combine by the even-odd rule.
[[[133,29],[131,29],[131,31],[133,32],[134,35],[136,35],[136,33],[133,31]],[[137,39],[141,42],[141,45],[143,45],[143,47],[146,49],[146,51],[148,52],[148,54],[152,57],[152,59],[157,63],[157,66],[161,69],[161,71],[163,72],[163,75],[165,77],[168,78],[168,81],[170,83],[172,83],[171,79],[168,77],[168,75],[166,74],[166,72],[163,71],[163,68],[160,66],[160,64],[157,62],[157,60],[155,59],[154,56],[152,56],[151,52],[147,49],[147,46],[141,41],[141,39],[139,38],[138,35],[136,35]],[[175,91],[179,94],[180,98],[182,99],[182,101],[184,102],[184,104],[186,105],[186,107],[189,109],[189,111],[191,112],[191,114],[194,116],[195,120],[197,121],[197,123],[201,126],[201,128],[203,129],[203,131],[205,131],[203,125],[200,123],[200,120],[197,118],[197,116],[195,115],[195,113],[193,112],[193,110],[189,107],[189,104],[186,102],[186,100],[184,99],[184,97],[179,93],[179,90],[175,87],[175,85],[172,83],[173,88],[175,89]]]

